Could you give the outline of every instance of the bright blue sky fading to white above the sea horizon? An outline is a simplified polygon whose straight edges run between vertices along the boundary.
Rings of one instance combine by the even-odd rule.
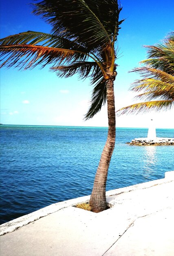
[[[31,13],[32,0],[0,2],[0,37],[32,30],[49,33],[51,27]],[[34,2],[34,1],[33,1]],[[122,23],[118,36],[120,57],[116,63],[116,110],[135,101],[128,91],[130,84],[140,76],[128,73],[145,59],[143,45],[159,43],[174,30],[173,0],[122,0]],[[90,81],[77,76],[60,79],[46,66],[40,70],[0,70],[2,124],[57,125],[57,126],[108,126],[107,108],[93,119],[84,121],[92,87]],[[117,117],[117,127],[148,127],[153,118],[156,128],[174,128],[174,110],[141,115]]]

